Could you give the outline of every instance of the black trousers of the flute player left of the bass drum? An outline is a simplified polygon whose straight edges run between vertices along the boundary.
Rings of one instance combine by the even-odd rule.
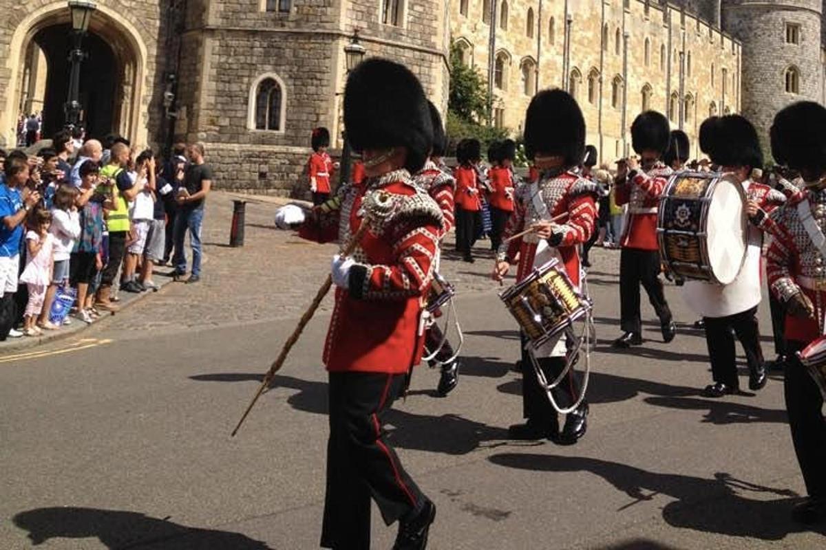
[[[639,313],[640,284],[645,287],[660,324],[672,321],[671,309],[662,291],[660,270],[660,253],[656,250],[623,248],[619,253],[619,317],[623,331],[638,334],[643,331]]]

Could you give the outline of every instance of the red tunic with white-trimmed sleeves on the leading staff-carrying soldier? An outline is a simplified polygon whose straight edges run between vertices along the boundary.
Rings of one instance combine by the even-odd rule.
[[[299,235],[316,242],[336,237],[348,242],[362,223],[358,211],[364,195],[377,189],[390,193],[396,207],[390,219],[371,225],[354,252],[349,290],[335,289],[324,350],[330,372],[406,373],[424,349],[420,313],[433,277],[442,217],[406,170],[370,179],[366,186],[344,186],[340,208],[306,223]]]

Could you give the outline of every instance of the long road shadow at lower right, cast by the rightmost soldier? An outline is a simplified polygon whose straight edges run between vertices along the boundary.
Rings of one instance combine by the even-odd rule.
[[[617,512],[655,498],[659,501],[661,495],[671,497],[674,501],[662,508],[662,519],[681,529],[763,540],[781,540],[787,534],[807,530],[826,534],[826,525],[806,529],[791,523],[791,507],[797,500],[794,491],[744,482],[728,473],[719,472],[714,479],[705,479],[648,472],[597,458],[545,454],[495,454],[488,460],[506,468],[535,472],[591,472],[631,499]],[[782,498],[754,501],[741,494],[748,492]]]

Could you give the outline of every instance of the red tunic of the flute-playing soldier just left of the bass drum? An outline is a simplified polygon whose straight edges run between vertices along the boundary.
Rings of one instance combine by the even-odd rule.
[[[659,250],[657,242],[657,206],[672,169],[657,162],[648,173],[639,170],[633,180],[618,184],[617,206],[628,204],[625,227],[619,243],[623,248]]]

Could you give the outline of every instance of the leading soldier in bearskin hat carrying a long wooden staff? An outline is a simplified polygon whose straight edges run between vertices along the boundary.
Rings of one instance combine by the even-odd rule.
[[[365,196],[382,191],[392,208],[371,223],[352,256],[335,256],[335,308],[324,350],[330,440],[321,546],[370,548],[370,498],[386,524],[400,522],[396,550],[425,548],[434,504],[402,468],[383,429],[424,345],[421,303],[433,276],[443,219],[413,183],[433,140],[420,82],[405,67],[368,59],[344,89],[344,126],[368,180],[342,186],[340,206],[317,209],[302,237],[348,242],[363,223]],[[329,203],[328,203],[329,204]]]

